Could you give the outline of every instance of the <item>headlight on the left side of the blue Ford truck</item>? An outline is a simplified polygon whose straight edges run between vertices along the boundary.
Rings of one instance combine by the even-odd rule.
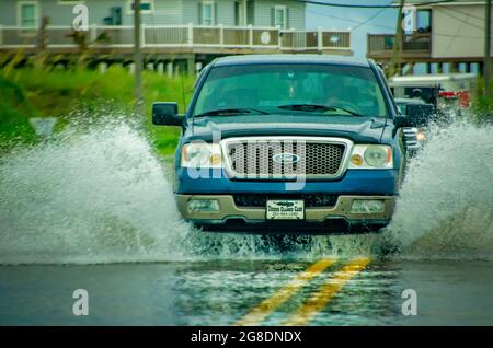
[[[182,147],[181,166],[195,169],[222,167],[221,148],[218,143],[185,143]]]

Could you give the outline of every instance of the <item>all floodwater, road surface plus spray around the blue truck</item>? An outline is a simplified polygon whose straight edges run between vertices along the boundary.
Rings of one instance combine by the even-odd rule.
[[[196,231],[141,134],[94,127],[0,158],[0,325],[493,324],[491,127],[437,132],[354,236]]]

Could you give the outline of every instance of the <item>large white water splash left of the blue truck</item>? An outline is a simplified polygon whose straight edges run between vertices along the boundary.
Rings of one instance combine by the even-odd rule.
[[[185,229],[161,164],[139,132],[118,119],[84,131],[69,127],[1,160],[2,260],[152,258],[173,236],[163,228]]]

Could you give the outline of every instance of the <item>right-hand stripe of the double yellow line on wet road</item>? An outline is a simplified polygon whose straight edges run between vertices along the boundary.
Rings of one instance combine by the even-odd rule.
[[[341,290],[344,285],[353,277],[359,274],[369,264],[369,258],[355,258],[345,265],[340,271],[320,288],[298,311],[293,314],[284,325],[296,326],[307,325],[322,311],[332,298]]]

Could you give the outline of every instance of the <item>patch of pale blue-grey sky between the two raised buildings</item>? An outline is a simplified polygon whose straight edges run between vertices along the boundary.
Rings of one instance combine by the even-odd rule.
[[[331,3],[390,4],[391,0],[318,0]],[[395,33],[397,10],[351,9],[307,4],[307,28],[351,30],[351,45],[355,57],[366,55],[366,34]],[[367,23],[365,23],[368,21]]]

